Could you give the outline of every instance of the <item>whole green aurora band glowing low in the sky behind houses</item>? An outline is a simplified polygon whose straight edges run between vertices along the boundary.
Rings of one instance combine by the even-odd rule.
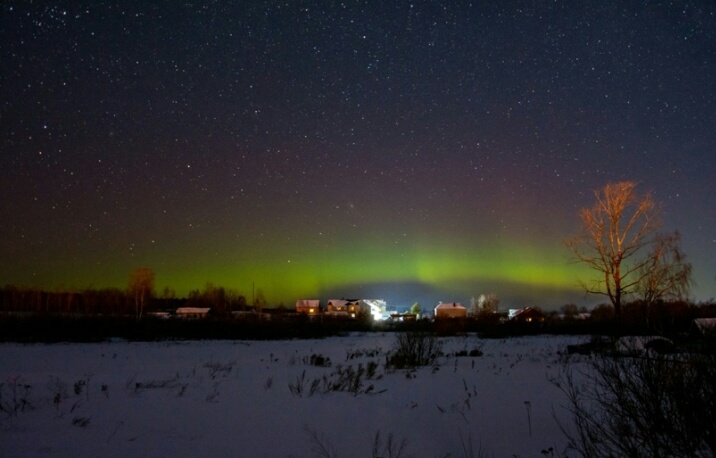
[[[351,296],[357,285],[379,285],[371,291],[389,299],[390,285],[403,284],[439,290],[449,296],[446,300],[456,301],[484,293],[509,301],[513,290],[529,289],[535,304],[559,307],[563,304],[554,302],[554,291],[571,291],[578,302],[583,296],[578,282],[589,278],[584,266],[570,263],[560,239],[545,235],[480,239],[467,231],[423,228],[408,235],[375,227],[341,235],[329,229],[290,236],[286,232],[276,229],[233,240],[221,230],[210,237],[172,232],[113,257],[87,246],[88,253],[74,250],[67,258],[28,259],[25,277],[37,278],[38,283],[23,286],[123,289],[130,272],[145,266],[156,272],[159,293],[168,287],[179,297],[211,283],[249,300],[261,291],[269,305],[289,305],[302,298],[327,299],[331,292]],[[23,273],[22,266],[17,273]],[[400,298],[421,303],[434,299],[422,297],[419,290],[404,291]]]

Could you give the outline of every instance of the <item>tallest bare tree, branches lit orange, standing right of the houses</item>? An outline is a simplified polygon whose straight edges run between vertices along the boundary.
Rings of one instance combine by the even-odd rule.
[[[635,292],[652,260],[648,253],[660,227],[660,207],[650,193],[640,195],[632,181],[609,183],[594,191],[596,203],[579,212],[581,233],[566,241],[577,260],[596,271],[587,293],[601,294],[621,321],[623,299]]]

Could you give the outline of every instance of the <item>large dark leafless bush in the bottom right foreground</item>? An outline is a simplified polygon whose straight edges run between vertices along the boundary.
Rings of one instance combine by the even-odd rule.
[[[556,383],[574,419],[562,429],[581,456],[716,454],[714,354],[593,354]]]

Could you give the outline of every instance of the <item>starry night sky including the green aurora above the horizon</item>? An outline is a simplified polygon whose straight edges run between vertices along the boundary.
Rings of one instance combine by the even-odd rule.
[[[592,190],[716,297],[716,4],[6,1],[0,284],[587,305]]]

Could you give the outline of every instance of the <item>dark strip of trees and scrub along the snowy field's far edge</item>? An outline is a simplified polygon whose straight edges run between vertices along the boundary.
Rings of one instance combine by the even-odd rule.
[[[442,335],[476,332],[486,337],[538,333],[678,336],[693,332],[694,319],[716,317],[713,301],[658,302],[649,307],[640,302],[627,303],[618,325],[614,308],[606,304],[586,313],[565,306],[560,312],[543,313],[532,322],[509,320],[501,313],[481,313],[463,319],[419,319],[405,323],[372,323],[366,317],[358,320],[309,317],[295,313],[293,307],[264,308],[264,305],[260,302],[250,306],[241,295],[208,286],[203,292],[193,291],[187,298],[153,296],[140,320],[134,299],[120,289],[53,292],[6,286],[0,289],[0,340],[281,339],[414,329]],[[210,312],[203,318],[166,319],[180,307],[202,307]]]

